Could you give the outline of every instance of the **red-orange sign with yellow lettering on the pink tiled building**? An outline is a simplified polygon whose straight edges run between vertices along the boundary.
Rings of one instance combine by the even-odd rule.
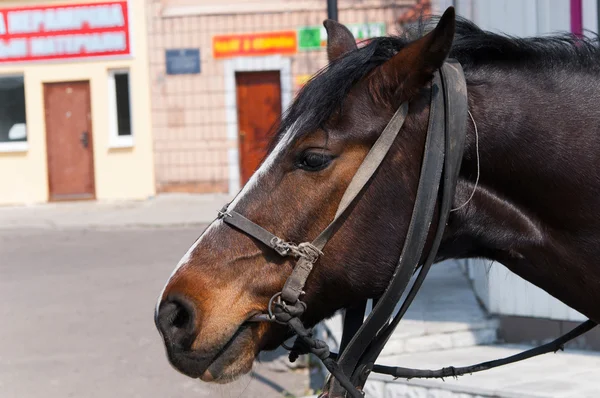
[[[296,31],[213,36],[213,57],[295,54]]]

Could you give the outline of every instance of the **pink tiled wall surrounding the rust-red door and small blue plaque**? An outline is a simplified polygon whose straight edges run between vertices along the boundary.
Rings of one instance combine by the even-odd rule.
[[[235,193],[236,184],[231,183],[238,173],[237,133],[232,125],[236,118],[235,86],[226,84],[231,60],[212,57],[212,37],[322,26],[326,2],[146,2],[157,189]],[[415,2],[340,0],[339,19],[343,23],[385,22],[388,33],[395,33],[395,21]],[[199,48],[201,73],[166,75],[165,49],[175,48]],[[298,78],[317,72],[327,62],[323,49],[299,51],[285,58],[290,60],[291,74],[283,76],[282,83],[289,83],[292,94],[298,89]],[[239,57],[238,61],[252,66],[264,60]]]

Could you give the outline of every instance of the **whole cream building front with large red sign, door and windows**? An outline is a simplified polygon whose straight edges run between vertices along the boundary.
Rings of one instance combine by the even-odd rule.
[[[145,12],[0,2],[0,205],[154,194]]]

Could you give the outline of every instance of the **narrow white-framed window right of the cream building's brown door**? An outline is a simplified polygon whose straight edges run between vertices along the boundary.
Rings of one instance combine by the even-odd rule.
[[[117,148],[133,146],[129,71],[110,72],[108,84],[111,108],[110,146]]]

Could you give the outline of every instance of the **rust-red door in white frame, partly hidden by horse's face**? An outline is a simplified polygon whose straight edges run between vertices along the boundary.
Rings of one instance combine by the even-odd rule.
[[[243,185],[265,157],[272,127],[281,115],[281,79],[278,71],[241,72],[235,81]]]

